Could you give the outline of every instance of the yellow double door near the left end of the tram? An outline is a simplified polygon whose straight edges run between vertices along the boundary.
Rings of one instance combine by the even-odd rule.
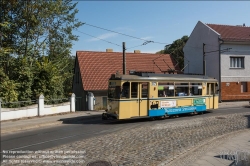
[[[131,82],[131,117],[148,115],[148,83]]]

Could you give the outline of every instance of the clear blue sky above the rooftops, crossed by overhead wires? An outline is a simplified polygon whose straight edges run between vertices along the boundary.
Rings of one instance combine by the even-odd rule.
[[[122,52],[141,50],[155,53],[166,44],[190,35],[198,21],[223,25],[250,26],[249,1],[78,1],[77,18],[87,24],[120,32],[137,38],[164,43],[148,43],[102,29],[83,25],[74,31],[79,40],[74,42],[72,54],[78,50]],[[98,40],[83,33],[107,40]],[[119,45],[119,46],[117,46]]]

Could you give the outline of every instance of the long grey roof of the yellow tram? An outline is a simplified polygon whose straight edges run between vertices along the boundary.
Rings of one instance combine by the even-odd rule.
[[[139,75],[113,75],[113,77],[111,77],[110,80],[217,82],[215,78],[204,75],[155,74],[155,73],[141,73]]]

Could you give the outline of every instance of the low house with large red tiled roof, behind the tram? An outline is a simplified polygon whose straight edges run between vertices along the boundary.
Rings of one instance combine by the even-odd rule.
[[[95,97],[94,109],[105,109],[107,106],[108,80],[111,74],[123,73],[123,53],[77,51],[73,78],[73,93],[76,95],[76,110],[88,108],[88,93]],[[135,50],[126,53],[126,74],[130,71],[146,71],[154,73],[179,71],[176,62],[169,54],[149,54]]]

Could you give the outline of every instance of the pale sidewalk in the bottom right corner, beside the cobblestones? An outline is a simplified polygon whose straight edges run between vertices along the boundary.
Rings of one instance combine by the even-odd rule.
[[[203,154],[191,166],[249,166],[250,130],[246,129]]]

